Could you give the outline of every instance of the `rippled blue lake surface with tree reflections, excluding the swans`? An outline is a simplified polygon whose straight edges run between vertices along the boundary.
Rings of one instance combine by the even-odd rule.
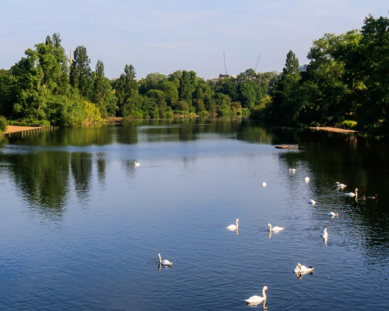
[[[388,186],[388,146],[354,135],[248,121],[15,134],[0,143],[0,310],[244,310],[265,285],[269,311],[388,310]]]

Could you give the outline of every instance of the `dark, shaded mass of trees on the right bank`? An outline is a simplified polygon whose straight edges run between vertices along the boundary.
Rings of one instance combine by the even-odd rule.
[[[289,126],[345,126],[389,135],[389,19],[365,19],[361,30],[325,34],[308,52],[306,72],[292,51],[271,100],[252,116]],[[354,122],[353,122],[354,121]],[[356,125],[355,125],[356,124]]]

